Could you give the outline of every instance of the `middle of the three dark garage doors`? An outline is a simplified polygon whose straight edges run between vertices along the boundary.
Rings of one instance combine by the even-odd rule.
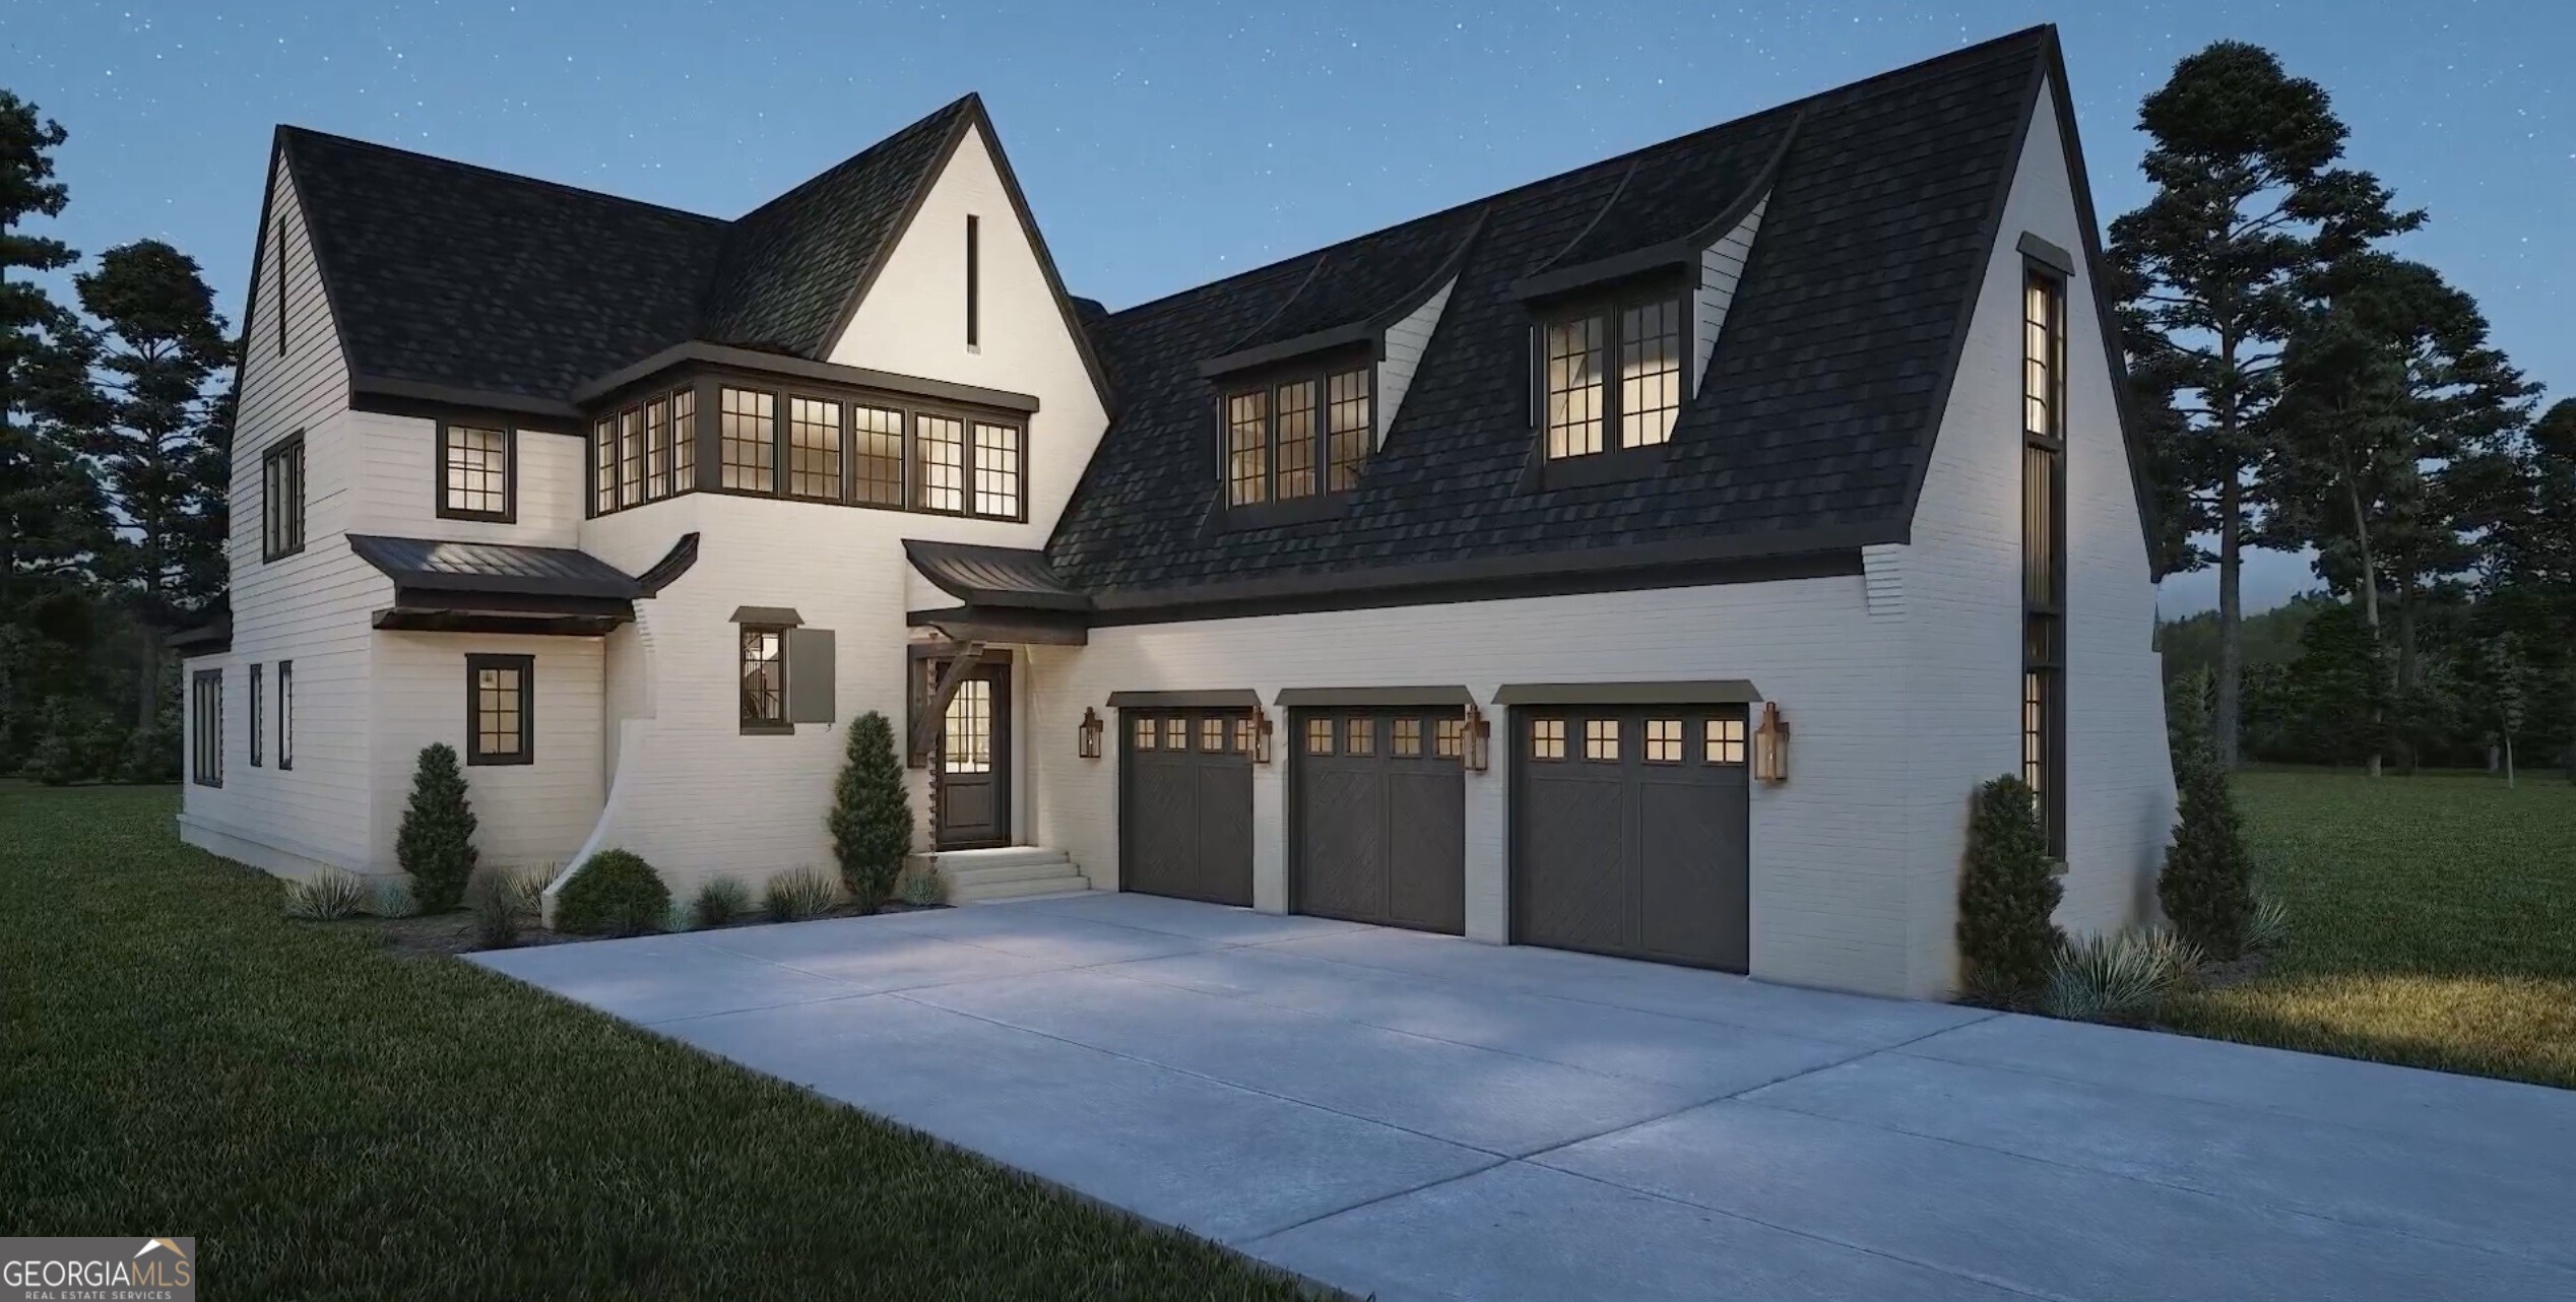
[[[1288,908],[1466,929],[1466,769],[1455,710],[1293,710]]]

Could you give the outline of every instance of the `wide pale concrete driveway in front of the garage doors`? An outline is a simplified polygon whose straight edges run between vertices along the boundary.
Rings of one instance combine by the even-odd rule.
[[[474,962],[1388,1299],[2576,1297],[2537,1086],[1151,895]]]

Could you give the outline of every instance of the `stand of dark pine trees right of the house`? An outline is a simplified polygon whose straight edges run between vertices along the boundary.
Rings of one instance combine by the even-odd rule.
[[[2427,214],[2344,162],[2326,90],[2269,51],[2182,59],[2138,126],[2154,193],[2110,262],[2156,569],[2218,569],[2208,661],[2169,659],[2177,726],[2228,767],[2576,764],[2576,399],[2537,412],[2476,298],[2388,250]],[[2313,548],[2329,597],[2249,674],[2257,546]]]

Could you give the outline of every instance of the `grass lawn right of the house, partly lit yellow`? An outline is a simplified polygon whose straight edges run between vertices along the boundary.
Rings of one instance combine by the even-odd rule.
[[[2174,1029],[2576,1088],[2576,787],[2483,775],[2246,772],[2290,942]]]

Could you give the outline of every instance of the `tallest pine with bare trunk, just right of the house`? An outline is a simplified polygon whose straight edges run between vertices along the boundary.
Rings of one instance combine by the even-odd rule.
[[[2218,41],[2138,105],[2156,193],[2110,226],[2123,335],[2141,394],[2169,394],[2156,463],[2218,533],[2218,687],[2213,749],[2236,764],[2241,551],[2254,540],[2249,484],[2262,417],[2280,394],[2280,350],[2300,280],[2370,239],[2414,229],[2367,172],[2342,170],[2344,124],[2326,90],[2269,51]],[[2192,564],[2197,553],[2179,561]]]

